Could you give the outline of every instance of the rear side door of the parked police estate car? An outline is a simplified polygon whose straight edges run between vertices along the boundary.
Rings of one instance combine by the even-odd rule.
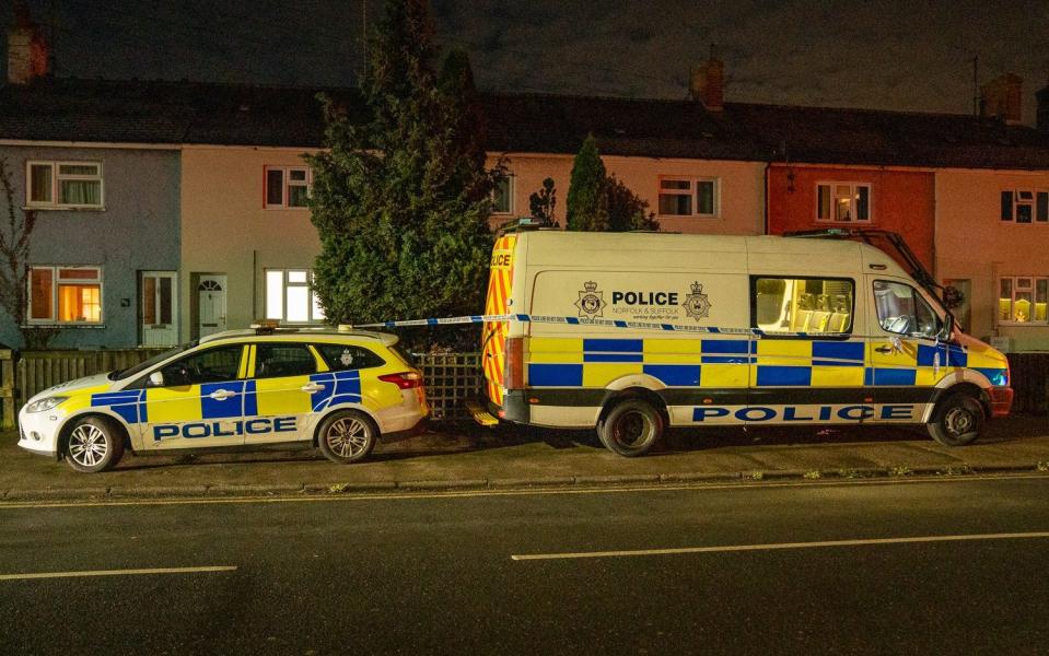
[[[259,342],[249,358],[255,406],[245,411],[245,444],[310,440],[313,395],[323,389],[310,379],[318,370],[313,351],[304,343]]]

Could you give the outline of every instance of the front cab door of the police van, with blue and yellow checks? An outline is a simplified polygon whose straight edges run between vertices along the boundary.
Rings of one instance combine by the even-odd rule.
[[[867,277],[873,292],[874,335],[867,344],[869,385],[876,421],[919,421],[939,379],[946,374],[943,321],[911,284]]]

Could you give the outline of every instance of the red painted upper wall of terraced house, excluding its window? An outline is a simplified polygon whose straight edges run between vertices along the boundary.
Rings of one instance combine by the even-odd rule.
[[[821,183],[871,185],[871,220],[835,223],[816,221]],[[933,271],[935,194],[932,173],[837,168],[832,166],[769,167],[769,234],[828,227],[871,227],[899,233],[925,268]]]

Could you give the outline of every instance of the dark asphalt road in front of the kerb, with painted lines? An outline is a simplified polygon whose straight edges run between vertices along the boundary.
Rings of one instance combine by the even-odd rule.
[[[1027,477],[0,506],[0,653],[1046,654],[1047,499]]]

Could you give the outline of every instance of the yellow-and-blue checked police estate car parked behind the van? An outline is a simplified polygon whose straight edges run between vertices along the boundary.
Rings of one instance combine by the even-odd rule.
[[[208,336],[131,368],[51,387],[19,413],[19,446],[77,471],[124,452],[316,447],[349,464],[429,413],[422,374],[393,335],[283,330]]]

